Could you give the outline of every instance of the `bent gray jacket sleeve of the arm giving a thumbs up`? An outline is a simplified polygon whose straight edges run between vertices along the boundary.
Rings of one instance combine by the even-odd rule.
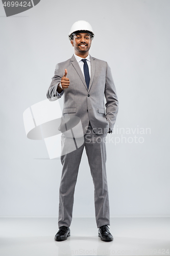
[[[64,94],[64,90],[61,93],[57,92],[57,87],[61,81],[61,77],[62,77],[62,74],[61,74],[60,66],[57,64],[54,76],[52,77],[52,82],[51,82],[50,87],[48,88],[48,91],[46,93],[46,97],[50,101],[57,100],[57,99],[61,98],[61,96]]]

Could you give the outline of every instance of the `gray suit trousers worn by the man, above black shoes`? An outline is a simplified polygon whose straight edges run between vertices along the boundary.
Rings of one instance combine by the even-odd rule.
[[[107,134],[97,135],[89,123],[84,143],[77,150],[61,156],[63,165],[59,190],[58,227],[69,227],[72,220],[75,185],[79,171],[82,153],[85,147],[90,172],[94,184],[94,205],[97,227],[110,225],[109,196],[106,177],[106,139]],[[69,140],[62,135],[62,150],[69,146]]]

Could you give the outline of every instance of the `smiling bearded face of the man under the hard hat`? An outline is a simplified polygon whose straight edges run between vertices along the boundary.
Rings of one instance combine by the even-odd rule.
[[[87,33],[76,34],[71,40],[71,45],[74,46],[75,53],[86,53],[91,46],[91,37]]]

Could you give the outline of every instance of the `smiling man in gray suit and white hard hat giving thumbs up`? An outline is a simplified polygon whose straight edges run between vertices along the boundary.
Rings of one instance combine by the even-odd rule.
[[[55,236],[57,241],[66,240],[70,236],[74,191],[84,147],[94,183],[95,218],[99,237],[102,241],[113,240],[108,227],[110,217],[105,138],[107,133],[112,133],[118,112],[118,100],[107,62],[89,55],[93,36],[92,27],[84,20],[72,25],[69,39],[75,54],[56,66],[55,75],[47,91],[47,98],[50,100],[64,95],[60,131],[62,132],[62,122],[66,119],[79,117],[84,137],[81,146],[61,156],[63,169],[59,196],[59,231]],[[70,136],[62,134],[62,150],[69,147],[71,138],[67,137]]]

